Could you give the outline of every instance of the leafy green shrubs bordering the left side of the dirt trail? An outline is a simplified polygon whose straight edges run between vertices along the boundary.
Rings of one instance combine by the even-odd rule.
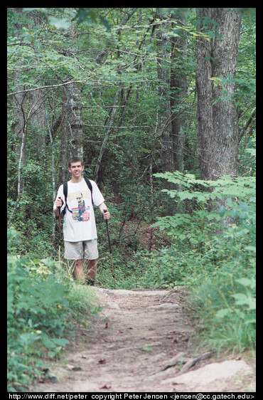
[[[17,233],[8,238],[12,248]],[[8,390],[26,391],[41,360],[59,357],[75,322],[86,324],[100,307],[92,289],[58,272],[53,260],[9,254],[7,266]]]

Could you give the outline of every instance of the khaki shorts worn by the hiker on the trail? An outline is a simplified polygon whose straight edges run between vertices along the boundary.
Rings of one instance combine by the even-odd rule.
[[[99,257],[97,239],[92,241],[67,242],[65,241],[65,258],[67,260],[95,260]]]

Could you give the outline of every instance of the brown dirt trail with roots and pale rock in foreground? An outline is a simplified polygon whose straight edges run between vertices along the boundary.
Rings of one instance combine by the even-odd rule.
[[[184,352],[185,357],[193,357],[189,346],[193,327],[183,313],[183,292],[93,290],[104,306],[100,319],[92,330],[78,330],[81,340],[73,342],[72,349],[65,352],[60,362],[51,364],[51,372],[58,381],[45,379],[31,391],[254,391],[252,367],[235,357],[232,358],[237,372],[232,374],[232,366],[222,379],[217,369],[222,364],[215,364],[218,363],[215,356],[196,363],[188,374],[175,378],[183,364],[171,367],[168,364],[173,364],[176,354]],[[205,364],[215,368],[216,377],[203,371]],[[221,368],[224,372],[225,367]],[[194,377],[195,372],[200,376]],[[188,379],[189,374],[192,376]]]

